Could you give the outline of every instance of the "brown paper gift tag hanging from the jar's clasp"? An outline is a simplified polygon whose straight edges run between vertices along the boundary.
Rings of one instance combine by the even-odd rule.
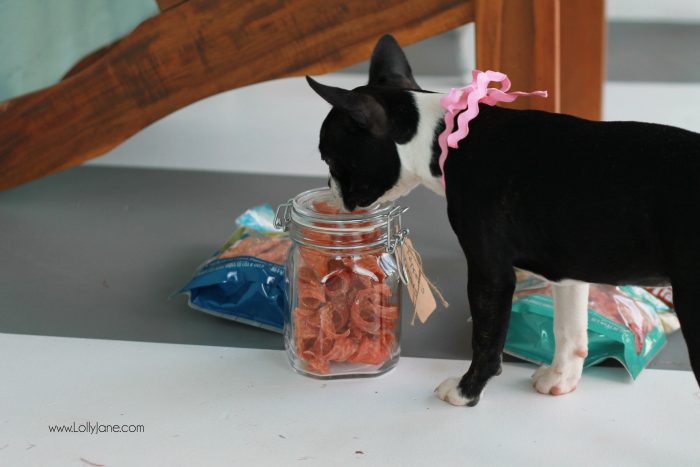
[[[430,279],[425,275],[423,260],[416,249],[413,248],[411,239],[407,238],[403,244],[398,245],[396,253],[399,256],[399,264],[402,265],[401,267],[406,272],[408,296],[413,302],[414,311],[411,325],[415,324],[416,316],[418,316],[421,323],[425,323],[437,308],[437,302],[433,294],[438,296],[442,306],[445,308],[449,307],[450,304],[447,303],[447,300],[445,300],[445,297],[442,296],[435,284],[430,282]]]

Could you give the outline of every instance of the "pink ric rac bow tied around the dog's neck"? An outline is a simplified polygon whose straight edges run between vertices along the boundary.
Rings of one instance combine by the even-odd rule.
[[[447,160],[447,147],[456,148],[457,144],[469,134],[469,122],[479,115],[479,103],[496,105],[498,102],[513,102],[519,96],[547,97],[547,91],[508,92],[510,80],[504,73],[498,71],[472,71],[472,83],[463,88],[452,88],[450,93],[440,99],[445,112],[445,131],[438,136],[440,145],[440,170],[442,171],[442,186],[445,186],[445,161]],[[501,88],[487,87],[490,82],[501,83]],[[462,112],[464,110],[464,112]],[[462,113],[460,113],[462,112]],[[457,129],[454,129],[455,115],[457,117]]]

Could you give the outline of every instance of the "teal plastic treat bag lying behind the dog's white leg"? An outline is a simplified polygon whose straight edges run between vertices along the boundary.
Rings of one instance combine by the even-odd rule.
[[[614,358],[636,378],[666,344],[659,313],[672,310],[641,287],[591,284],[584,366]],[[554,358],[553,324],[551,286],[519,271],[505,352],[550,365]]]

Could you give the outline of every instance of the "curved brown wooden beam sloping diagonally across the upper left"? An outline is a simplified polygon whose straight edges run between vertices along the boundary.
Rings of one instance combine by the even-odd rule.
[[[473,21],[464,0],[188,0],[64,81],[0,103],[0,190],[104,154],[175,110],[248,84],[323,74]]]

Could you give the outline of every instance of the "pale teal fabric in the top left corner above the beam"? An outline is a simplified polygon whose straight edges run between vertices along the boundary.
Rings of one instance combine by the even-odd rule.
[[[0,0],[0,102],[57,83],[158,12],[155,0]]]

